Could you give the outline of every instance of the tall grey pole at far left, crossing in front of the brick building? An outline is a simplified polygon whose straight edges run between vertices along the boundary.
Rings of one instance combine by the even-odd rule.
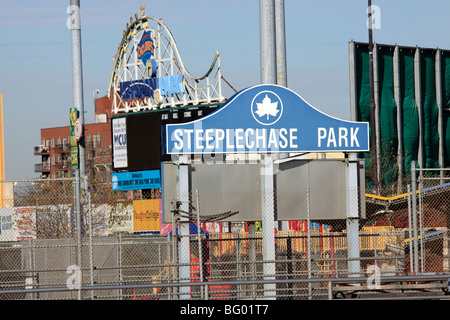
[[[80,0],[70,0],[70,29],[72,36],[72,90],[73,107],[80,112],[79,119],[83,125],[83,134],[79,144],[80,176],[86,175],[86,157],[84,142],[84,101],[83,101],[83,68],[81,53],[81,15]]]

